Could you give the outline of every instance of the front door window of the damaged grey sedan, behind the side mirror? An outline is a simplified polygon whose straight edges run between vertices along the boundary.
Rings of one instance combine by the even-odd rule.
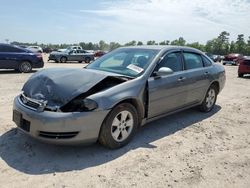
[[[171,53],[166,55],[160,62],[157,70],[159,70],[161,67],[168,67],[174,72],[182,71],[183,69],[180,53]]]

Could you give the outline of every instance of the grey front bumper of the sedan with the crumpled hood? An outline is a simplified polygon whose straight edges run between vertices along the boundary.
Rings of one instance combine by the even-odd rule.
[[[18,128],[39,140],[54,144],[85,144],[98,139],[109,110],[92,112],[38,112],[25,107],[17,96],[13,121]]]

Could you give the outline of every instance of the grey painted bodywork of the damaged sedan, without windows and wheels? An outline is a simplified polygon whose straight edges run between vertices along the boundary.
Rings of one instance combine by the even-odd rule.
[[[18,111],[26,118],[31,125],[31,134],[33,137],[41,139],[36,131],[49,131],[49,132],[63,132],[63,131],[79,131],[79,134],[74,138],[67,140],[63,139],[45,139],[56,144],[70,144],[77,142],[93,142],[98,139],[100,127],[104,122],[109,112],[119,103],[131,102],[135,105],[138,111],[138,117],[142,124],[151,121],[153,118],[161,117],[163,114],[169,114],[181,109],[186,109],[198,104],[201,104],[208,88],[211,84],[217,83],[219,85],[219,91],[221,91],[225,85],[225,69],[222,65],[212,63],[211,66],[207,66],[199,69],[191,69],[180,72],[174,72],[173,74],[156,77],[153,75],[156,66],[159,64],[164,55],[175,51],[188,51],[204,55],[199,50],[185,47],[171,47],[171,46],[140,46],[140,47],[125,47],[125,49],[157,49],[157,54],[152,59],[148,68],[138,77],[122,77],[122,75],[114,74],[111,72],[105,72],[101,70],[73,70],[65,69],[62,72],[68,70],[68,77],[72,77],[72,82],[79,82],[76,85],[72,82],[65,81],[63,74],[57,69],[51,71],[41,71],[31,77],[32,82],[28,81],[24,87],[24,93],[28,93],[28,96],[36,100],[50,99],[50,94],[43,92],[44,98],[36,98],[40,91],[47,91],[47,86],[53,86],[56,89],[53,90],[55,95],[60,95],[62,101],[60,103],[50,103],[51,105],[64,105],[69,100],[74,100],[80,96],[84,96],[84,99],[90,99],[98,104],[98,108],[89,112],[72,112],[65,113],[57,109],[57,111],[36,111],[27,108],[26,104],[20,100],[20,96],[14,101],[14,110]],[[124,48],[120,48],[124,49]],[[111,52],[112,53],[112,52]],[[106,56],[106,55],[105,55]],[[102,58],[100,57],[100,61]],[[204,55],[205,56],[205,55]],[[88,67],[87,67],[88,69]],[[58,73],[56,73],[58,71]],[[53,72],[55,74],[62,74],[60,79],[54,79]],[[75,72],[75,76],[74,76]],[[49,74],[47,74],[49,73]],[[38,84],[41,88],[34,90],[31,94],[32,87],[39,81],[40,75],[51,80],[50,82]],[[83,75],[81,75],[83,74]],[[86,75],[84,75],[86,74]],[[98,74],[98,75],[97,75]],[[55,75],[55,78],[57,76]],[[67,77],[67,75],[66,75]],[[65,77],[65,78],[66,78]],[[87,78],[90,77],[90,78]],[[96,77],[96,78],[95,78]],[[109,84],[113,78],[117,79],[121,77],[121,82],[115,82],[115,84]],[[185,77],[184,80],[180,80],[181,77]],[[112,78],[103,82],[106,78]],[[86,79],[84,81],[84,79]],[[92,80],[93,79],[93,80]],[[79,81],[82,80],[82,81]],[[30,82],[30,83],[29,83]],[[52,83],[52,84],[51,84]],[[93,90],[91,88],[96,87],[99,84],[101,89]],[[219,92],[218,91],[218,92]],[[34,126],[34,128],[33,128]],[[75,129],[72,127],[78,127]],[[33,132],[34,130],[34,132]],[[84,132],[85,131],[85,132]],[[91,136],[86,132],[90,131]],[[78,137],[79,136],[79,137]],[[76,139],[76,140],[75,140]],[[43,139],[44,140],[44,139]],[[72,141],[72,142],[71,142]]]

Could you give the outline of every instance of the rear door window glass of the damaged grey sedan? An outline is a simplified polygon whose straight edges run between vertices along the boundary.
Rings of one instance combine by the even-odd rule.
[[[203,67],[202,58],[200,55],[195,53],[184,52],[185,67],[189,69],[197,69]]]

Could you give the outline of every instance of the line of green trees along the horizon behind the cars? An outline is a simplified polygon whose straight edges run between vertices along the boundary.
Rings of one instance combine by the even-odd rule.
[[[247,40],[245,40],[245,36],[243,34],[239,34],[236,41],[229,40],[230,33],[227,31],[223,31],[219,34],[218,37],[208,40],[206,44],[201,44],[199,42],[187,43],[183,37],[179,37],[176,40],[169,41],[164,40],[161,42],[156,42],[154,40],[149,40],[146,43],[142,41],[135,41],[132,40],[125,44],[120,44],[118,42],[110,42],[106,43],[105,41],[101,40],[98,43],[92,42],[80,42],[78,44],[38,44],[38,43],[21,43],[21,42],[12,42],[14,45],[38,45],[42,48],[51,48],[51,49],[60,49],[60,48],[67,48],[70,45],[80,45],[83,49],[86,50],[105,50],[110,51],[114,50],[121,46],[140,46],[140,45],[178,45],[178,46],[189,46],[193,48],[197,48],[201,51],[208,52],[211,54],[218,54],[218,55],[226,55],[229,53],[240,53],[244,55],[250,55],[250,36],[248,36]]]

